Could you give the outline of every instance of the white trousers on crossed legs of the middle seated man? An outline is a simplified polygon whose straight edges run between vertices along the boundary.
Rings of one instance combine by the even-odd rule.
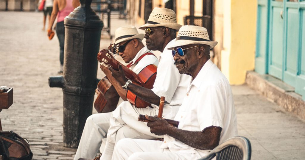
[[[118,140],[117,132],[121,130],[124,126],[129,126],[133,130],[137,131],[138,134],[142,134],[142,137],[127,137],[127,138],[138,138],[138,139],[156,139],[163,138],[163,136],[158,136],[156,134],[150,133],[150,128],[147,123],[138,121],[140,114],[155,116],[158,114],[158,109],[146,107],[146,108],[136,108],[131,105],[130,102],[124,101],[112,112],[110,117],[110,127],[108,130],[107,141],[110,143],[116,143]],[[120,131],[122,132],[122,131]],[[126,136],[125,136],[126,137]]]

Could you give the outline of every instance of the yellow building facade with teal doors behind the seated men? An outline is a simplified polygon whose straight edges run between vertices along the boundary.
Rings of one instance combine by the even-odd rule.
[[[218,45],[213,62],[230,84],[244,84],[254,70],[295,87],[305,100],[305,1],[304,0],[139,0],[135,21],[145,23],[154,7],[187,17],[205,17],[203,26]],[[210,25],[206,25],[210,23]],[[194,24],[194,23],[192,23]],[[195,25],[198,25],[195,23]]]

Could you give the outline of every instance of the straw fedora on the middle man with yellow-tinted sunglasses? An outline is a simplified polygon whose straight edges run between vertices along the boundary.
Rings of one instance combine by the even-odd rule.
[[[147,23],[141,26],[139,29],[144,30],[146,27],[167,27],[174,30],[179,30],[181,27],[177,23],[176,13],[167,8],[154,8],[149,15]]]

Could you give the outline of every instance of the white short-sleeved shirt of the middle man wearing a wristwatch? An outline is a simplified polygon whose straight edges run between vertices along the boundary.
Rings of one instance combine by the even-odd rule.
[[[157,77],[152,91],[159,97],[164,96],[165,101],[163,113],[165,118],[173,119],[182,104],[186,89],[192,79],[191,76],[180,74],[174,65],[174,57],[171,50],[167,50],[176,39],[170,41],[164,51],[160,54],[157,68]],[[152,105],[159,108],[159,106]],[[167,115],[168,114],[168,115]]]

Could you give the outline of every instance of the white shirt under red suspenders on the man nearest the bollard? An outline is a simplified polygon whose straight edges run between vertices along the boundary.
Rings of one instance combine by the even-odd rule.
[[[147,49],[147,47],[143,47],[136,55],[135,58],[132,59],[132,63],[135,63],[135,61],[141,57],[141,55],[144,55],[147,52],[151,52],[149,49]],[[143,68],[145,68],[146,66],[153,64],[155,66],[158,66],[159,61],[157,59],[156,56],[154,55],[145,55],[137,64],[133,64],[131,67],[129,67],[129,69],[131,69],[132,71],[134,71],[135,73],[139,74]]]

